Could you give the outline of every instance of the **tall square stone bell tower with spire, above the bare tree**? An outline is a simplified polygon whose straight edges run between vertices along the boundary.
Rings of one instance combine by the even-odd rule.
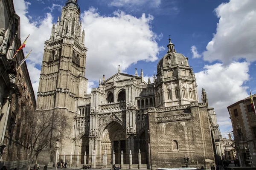
[[[76,113],[77,105],[87,94],[84,36],[79,4],[77,0],[67,0],[44,43],[38,110],[61,108]]]

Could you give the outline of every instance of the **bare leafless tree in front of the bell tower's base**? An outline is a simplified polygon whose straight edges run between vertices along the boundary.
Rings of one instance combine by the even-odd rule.
[[[30,129],[30,154],[29,167],[38,154],[56,139],[61,139],[62,134],[70,129],[68,116],[61,111],[35,111],[28,113]]]

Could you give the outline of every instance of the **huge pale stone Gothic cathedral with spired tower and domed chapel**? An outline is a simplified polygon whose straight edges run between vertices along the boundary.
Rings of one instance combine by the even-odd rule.
[[[67,0],[45,41],[37,111],[61,111],[71,129],[38,161],[70,167],[157,169],[215,164],[208,103],[199,102],[188,57],[169,39],[151,82],[143,70],[99,79],[87,91],[85,32],[77,0]],[[50,154],[49,154],[50,153]]]

